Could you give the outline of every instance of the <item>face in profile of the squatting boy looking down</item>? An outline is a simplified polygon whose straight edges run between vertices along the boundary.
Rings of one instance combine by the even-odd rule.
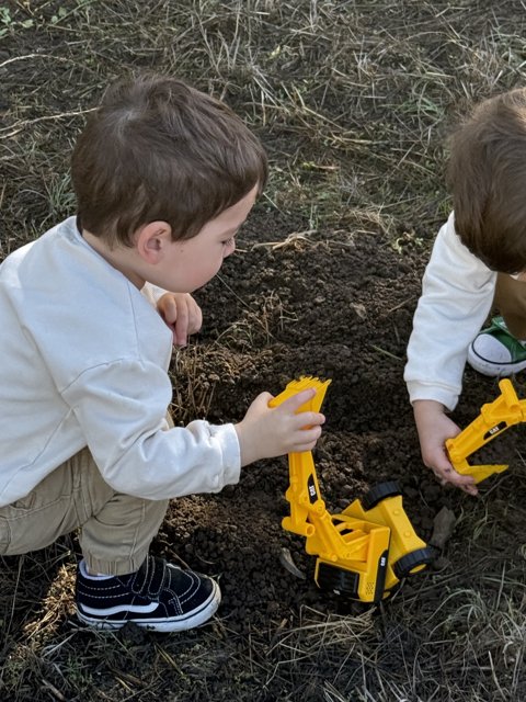
[[[216,275],[222,261],[236,250],[236,234],[249,216],[258,186],[242,200],[207,222],[192,239],[169,241],[155,267],[151,283],[178,293],[192,293]]]

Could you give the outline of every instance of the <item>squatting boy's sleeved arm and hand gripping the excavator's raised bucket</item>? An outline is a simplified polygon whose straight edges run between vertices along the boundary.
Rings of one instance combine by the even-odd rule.
[[[309,389],[275,408],[263,393],[236,426],[194,420],[169,429],[172,392],[161,367],[133,359],[100,363],[64,389],[71,421],[116,491],[145,499],[218,492],[239,482],[242,465],[311,450],[324,421],[319,412],[296,414]]]

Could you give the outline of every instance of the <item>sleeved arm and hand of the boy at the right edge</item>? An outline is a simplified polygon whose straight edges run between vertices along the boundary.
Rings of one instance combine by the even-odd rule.
[[[451,215],[423,278],[404,371],[424,464],[471,495],[477,494],[473,480],[447,458],[445,441],[459,428],[445,412],[458,401],[468,347],[491,308],[496,273],[461,244]]]

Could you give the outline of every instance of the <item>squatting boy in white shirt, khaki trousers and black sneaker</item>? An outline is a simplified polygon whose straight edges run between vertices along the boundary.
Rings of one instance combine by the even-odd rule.
[[[297,414],[312,390],[275,409],[263,393],[237,424],[168,415],[172,342],[201,326],[190,293],[233,252],[266,169],[219,101],[169,77],[118,82],[73,151],[77,218],[0,267],[0,555],[81,526],[88,624],[208,620],[217,584],[148,555],[169,498],[217,492],[320,435],[321,414]]]

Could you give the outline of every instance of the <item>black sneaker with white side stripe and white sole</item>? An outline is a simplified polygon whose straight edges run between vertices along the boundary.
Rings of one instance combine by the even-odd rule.
[[[90,577],[82,561],[76,599],[80,621],[98,629],[134,622],[157,632],[180,632],[210,619],[221,593],[211,578],[148,556],[137,573],[107,578]]]

